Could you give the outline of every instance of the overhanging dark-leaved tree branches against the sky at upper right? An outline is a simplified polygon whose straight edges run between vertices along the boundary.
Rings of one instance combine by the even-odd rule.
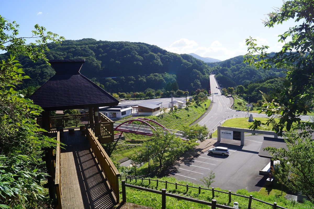
[[[279,35],[279,42],[284,43],[277,53],[267,53],[268,46],[257,46],[256,39],[246,39],[248,53],[244,62],[257,68],[269,69],[276,67],[286,69],[286,80],[279,94],[272,94],[261,111],[266,112],[268,121],[273,123],[273,131],[281,135],[283,129],[291,129],[291,125],[300,122],[300,115],[310,112],[307,104],[313,100],[314,77],[314,2],[312,0],[286,1],[281,8],[268,14],[264,21],[265,27],[272,28],[275,24],[294,19],[297,25],[290,27]],[[275,118],[279,116],[279,121]],[[262,125],[255,120],[251,128]]]

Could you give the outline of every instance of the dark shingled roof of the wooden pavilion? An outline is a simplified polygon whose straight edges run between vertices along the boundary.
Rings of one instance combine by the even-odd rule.
[[[116,106],[119,101],[79,73],[85,60],[50,60],[56,74],[30,97],[46,111]]]

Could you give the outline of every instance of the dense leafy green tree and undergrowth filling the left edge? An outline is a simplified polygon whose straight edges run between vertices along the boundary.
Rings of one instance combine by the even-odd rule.
[[[44,130],[36,125],[34,118],[40,115],[41,107],[14,90],[29,78],[23,75],[14,55],[48,62],[44,54],[49,50],[47,42],[60,43],[64,38],[36,24],[30,36],[36,41],[27,44],[28,38],[18,37],[18,28],[16,22],[11,23],[0,15],[0,50],[11,54],[0,63],[0,202],[1,207],[36,208],[37,199],[43,197],[39,183],[46,174],[37,172],[35,166],[41,165],[42,150],[55,146],[56,141],[39,134]]]

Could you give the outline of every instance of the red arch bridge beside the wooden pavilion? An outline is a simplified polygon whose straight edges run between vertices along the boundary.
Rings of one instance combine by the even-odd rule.
[[[114,123],[113,127],[114,127],[114,131],[121,132],[121,133],[117,133],[120,135],[122,135],[123,132],[126,132],[126,133],[142,134],[146,136],[153,136],[154,131],[162,130],[164,133],[172,133],[172,134],[175,134],[176,137],[185,139],[183,137],[183,131],[167,129],[160,123],[157,123],[156,121],[148,119],[148,118],[137,118],[137,119],[131,119],[131,120],[125,121],[123,123]]]

